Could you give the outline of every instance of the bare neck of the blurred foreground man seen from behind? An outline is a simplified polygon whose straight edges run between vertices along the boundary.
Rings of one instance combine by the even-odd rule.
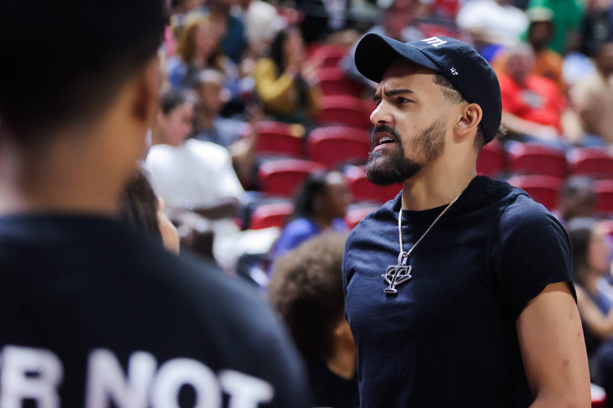
[[[63,152],[56,154],[64,149]],[[89,213],[118,211],[120,188],[112,188],[95,158],[79,157],[69,147],[45,146],[28,152],[0,149],[0,215],[15,213]],[[42,150],[45,150],[43,152]],[[106,177],[108,176],[108,177]]]

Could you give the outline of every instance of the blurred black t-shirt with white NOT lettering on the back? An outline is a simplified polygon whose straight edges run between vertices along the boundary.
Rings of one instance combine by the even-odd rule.
[[[310,406],[256,293],[110,218],[0,218],[0,327],[7,406]]]

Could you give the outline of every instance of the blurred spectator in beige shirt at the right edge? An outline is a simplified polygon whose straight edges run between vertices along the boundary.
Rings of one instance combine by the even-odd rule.
[[[571,105],[585,133],[613,143],[613,42],[600,46],[595,64],[596,72],[571,88]]]

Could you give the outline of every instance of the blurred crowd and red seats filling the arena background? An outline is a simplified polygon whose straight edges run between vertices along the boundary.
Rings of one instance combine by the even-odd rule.
[[[141,226],[269,290],[318,404],[359,404],[343,234],[402,188],[370,185],[362,171],[376,84],[352,54],[365,32],[456,37],[492,64],[508,133],[485,147],[478,172],[524,188],[567,226],[593,382],[613,395],[611,0],[170,6],[161,106],[143,160],[151,187],[142,175],[129,187],[145,191],[159,226]],[[126,200],[138,219],[129,191]]]

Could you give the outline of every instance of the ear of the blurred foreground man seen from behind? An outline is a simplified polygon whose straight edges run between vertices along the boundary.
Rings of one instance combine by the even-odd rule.
[[[136,95],[132,111],[139,121],[151,124],[159,109],[161,73],[159,57],[153,57],[137,73]]]

